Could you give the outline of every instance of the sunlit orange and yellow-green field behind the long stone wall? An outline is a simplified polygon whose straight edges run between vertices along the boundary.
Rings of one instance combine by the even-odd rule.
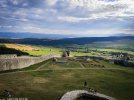
[[[42,55],[48,55],[51,53],[61,54],[61,50],[62,50],[62,49],[54,48],[54,47],[33,46],[33,45],[24,45],[24,44],[1,43],[0,46],[5,46],[7,48],[20,50],[32,56],[42,56]]]

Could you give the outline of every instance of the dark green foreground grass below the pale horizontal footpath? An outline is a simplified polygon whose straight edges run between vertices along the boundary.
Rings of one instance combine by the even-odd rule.
[[[29,100],[59,100],[67,91],[83,89],[83,83],[117,100],[134,100],[134,70],[47,70],[0,75],[0,92]]]

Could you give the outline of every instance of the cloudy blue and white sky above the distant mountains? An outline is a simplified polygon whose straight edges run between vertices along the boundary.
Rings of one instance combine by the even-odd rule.
[[[0,0],[0,32],[134,35],[134,0]]]

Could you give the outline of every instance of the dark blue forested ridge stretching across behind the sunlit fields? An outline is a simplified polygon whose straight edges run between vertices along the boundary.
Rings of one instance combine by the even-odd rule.
[[[134,43],[134,36],[124,37],[83,37],[83,38],[65,38],[65,39],[37,39],[37,38],[26,38],[26,39],[8,39],[8,42],[19,43],[19,44],[34,44],[34,45],[47,45],[47,46],[65,46],[65,45],[84,45],[91,44],[94,42],[110,42],[110,41],[131,41]],[[0,39],[0,41],[5,41]]]

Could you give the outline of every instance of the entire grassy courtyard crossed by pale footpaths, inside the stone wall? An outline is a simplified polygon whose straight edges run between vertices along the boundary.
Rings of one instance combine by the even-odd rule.
[[[20,71],[0,74],[0,97],[2,91],[11,91],[13,97],[29,100],[59,100],[71,90],[97,89],[117,100],[133,100],[134,69],[110,64],[101,60],[83,61],[57,58],[32,65]]]

